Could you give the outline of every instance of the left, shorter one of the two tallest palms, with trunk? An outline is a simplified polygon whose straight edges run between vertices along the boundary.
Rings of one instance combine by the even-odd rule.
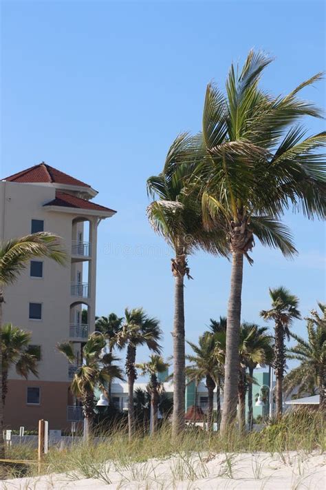
[[[175,279],[173,319],[173,436],[184,429],[185,330],[184,277],[191,278],[188,255],[202,248],[225,254],[226,241],[219,229],[207,232],[202,225],[202,209],[196,196],[186,189],[189,169],[196,162],[196,139],[177,136],[166,156],[162,172],[147,180],[148,193],[156,198],[148,207],[151,226],[171,245],[171,270]]]

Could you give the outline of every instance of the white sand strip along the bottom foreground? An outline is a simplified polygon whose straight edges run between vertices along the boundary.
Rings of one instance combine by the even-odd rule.
[[[326,460],[318,453],[210,454],[175,456],[122,466],[96,467],[97,478],[76,473],[19,478],[1,483],[1,490],[325,490]],[[107,480],[107,482],[105,482]]]

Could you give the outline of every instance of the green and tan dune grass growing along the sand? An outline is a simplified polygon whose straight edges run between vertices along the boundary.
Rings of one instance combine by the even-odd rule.
[[[132,442],[129,442],[124,430],[117,428],[87,443],[75,442],[64,449],[50,448],[44,458],[42,473],[67,473],[73,480],[99,478],[109,484],[110,468],[114,467],[114,470],[121,474],[128,471],[134,480],[145,480],[155,473],[155,467],[149,460],[164,460],[174,456],[177,459],[172,462],[173,478],[196,480],[204,478],[206,462],[220,453],[225,455],[224,475],[232,478],[232,455],[276,453],[288,464],[288,451],[325,451],[325,424],[320,411],[292,412],[278,422],[271,421],[259,432],[241,434],[237,427],[231,427],[224,437],[219,433],[208,433],[196,427],[188,427],[177,441],[171,438],[169,424],[163,425],[153,436],[136,433]],[[194,455],[197,457],[196,467],[193,467],[191,462]],[[7,458],[34,459],[36,451],[26,445],[16,446],[8,449]],[[19,472],[19,468],[16,471]],[[259,478],[259,462],[254,462],[252,471],[255,478]],[[35,466],[30,465],[24,469],[24,476],[34,476],[36,473]],[[7,478],[14,478],[13,475],[19,476],[17,472],[10,471]]]

